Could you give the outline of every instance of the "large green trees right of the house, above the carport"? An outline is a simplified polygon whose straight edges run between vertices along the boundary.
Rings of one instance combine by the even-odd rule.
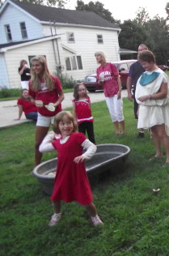
[[[169,2],[166,11],[169,15]],[[167,19],[160,18],[158,15],[150,19],[145,8],[139,8],[136,18],[125,20],[120,24],[120,28],[120,47],[137,50],[138,45],[146,44],[153,51],[158,64],[168,64],[169,25]]]

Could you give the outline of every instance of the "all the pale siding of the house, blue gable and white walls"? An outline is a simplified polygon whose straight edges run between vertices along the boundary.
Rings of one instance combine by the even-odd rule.
[[[57,66],[61,66],[62,74],[73,77],[74,80],[82,80],[85,76],[95,73],[98,66],[95,61],[95,51],[103,51],[107,56],[108,62],[120,60],[116,29],[94,28],[66,23],[57,24],[55,29],[54,26],[50,27],[50,24],[36,21],[33,16],[11,4],[6,6],[6,10],[0,18],[1,44],[7,43],[5,24],[9,24],[11,27],[12,41],[23,41],[20,22],[26,23],[28,40],[43,38],[44,36],[54,36],[55,32],[61,36],[61,39],[57,39],[57,41],[55,39],[53,43],[53,38],[51,37],[47,39],[49,41],[41,41],[39,43],[32,41],[32,45],[15,45],[13,49],[12,47],[6,48],[6,52],[4,53],[6,62],[2,62],[1,68],[1,70],[7,70],[4,73],[5,75],[2,74],[2,80],[5,81],[6,87],[20,87],[20,77],[18,74],[19,62],[21,59],[28,61],[28,56],[45,55],[52,74],[57,72]],[[67,41],[66,32],[74,32],[75,43],[69,43]],[[103,36],[104,44],[98,44],[98,34]],[[59,53],[57,49],[59,49]],[[65,58],[74,55],[81,56],[82,70],[66,70]]]

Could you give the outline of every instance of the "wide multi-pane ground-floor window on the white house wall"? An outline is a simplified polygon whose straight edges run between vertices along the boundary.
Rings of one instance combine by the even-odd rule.
[[[66,70],[82,70],[81,56],[72,56],[65,58]]]

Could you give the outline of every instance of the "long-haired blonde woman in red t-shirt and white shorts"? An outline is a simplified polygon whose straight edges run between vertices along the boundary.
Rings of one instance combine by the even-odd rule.
[[[61,101],[64,94],[60,80],[49,73],[44,56],[32,58],[32,78],[29,82],[29,95],[36,105],[38,117],[36,122],[36,152],[35,165],[40,164],[42,153],[39,151],[40,143],[53,125],[55,115],[61,111]],[[52,108],[49,108],[52,105]]]

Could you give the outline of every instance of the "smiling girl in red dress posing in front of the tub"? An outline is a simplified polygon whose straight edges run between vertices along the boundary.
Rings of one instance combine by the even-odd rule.
[[[66,203],[78,201],[86,207],[94,226],[103,225],[92,203],[91,187],[84,164],[85,160],[95,154],[96,146],[84,134],[76,132],[74,117],[68,111],[57,113],[53,130],[40,144],[41,152],[57,150],[57,174],[51,196],[54,214],[49,226],[61,220],[61,200]],[[55,133],[61,134],[61,138],[56,139]],[[87,151],[83,153],[83,149]]]

